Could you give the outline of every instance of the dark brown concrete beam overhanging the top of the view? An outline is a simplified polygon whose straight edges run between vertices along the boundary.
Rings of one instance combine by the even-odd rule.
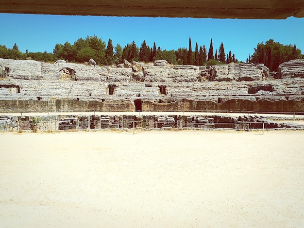
[[[304,0],[1,0],[0,13],[285,19]]]

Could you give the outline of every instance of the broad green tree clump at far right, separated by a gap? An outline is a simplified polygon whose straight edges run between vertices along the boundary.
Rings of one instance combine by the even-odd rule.
[[[263,42],[257,44],[251,62],[263,63],[270,71],[276,71],[280,64],[299,58],[302,58],[301,50],[295,45],[283,45],[270,39],[265,44]]]

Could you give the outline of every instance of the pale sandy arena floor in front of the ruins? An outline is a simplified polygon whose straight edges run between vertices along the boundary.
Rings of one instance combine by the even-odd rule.
[[[0,133],[0,227],[304,227],[304,131]]]

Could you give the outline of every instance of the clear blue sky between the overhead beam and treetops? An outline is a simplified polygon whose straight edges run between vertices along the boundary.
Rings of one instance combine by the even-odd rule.
[[[109,16],[53,16],[0,14],[0,45],[20,51],[52,52],[57,43],[73,44],[80,37],[97,35],[107,44],[124,47],[135,40],[138,47],[143,40],[147,45],[161,49],[188,48],[191,36],[192,50],[195,43],[205,45],[210,38],[213,49],[223,42],[225,53],[235,53],[246,61],[257,43],[274,39],[284,45],[292,44],[304,52],[304,18],[289,17],[285,20],[166,18],[166,17],[109,17]]]

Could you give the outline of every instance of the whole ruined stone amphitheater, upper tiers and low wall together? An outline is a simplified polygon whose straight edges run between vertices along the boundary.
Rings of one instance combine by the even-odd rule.
[[[304,110],[303,60],[281,64],[278,73],[270,73],[263,64],[169,65],[164,60],[124,61],[114,67],[98,66],[94,60],[73,64],[0,59],[0,66],[0,112],[45,113],[2,116],[1,130],[33,130],[34,125],[36,130],[46,130],[44,125],[49,130],[123,129],[132,127],[134,120],[143,128],[224,127],[220,123],[232,123],[227,128],[244,128],[245,123],[245,128],[261,128],[263,116],[149,113],[300,114]],[[52,112],[76,114],[47,114]],[[83,112],[91,114],[77,114]],[[288,127],[265,123],[266,128]]]

